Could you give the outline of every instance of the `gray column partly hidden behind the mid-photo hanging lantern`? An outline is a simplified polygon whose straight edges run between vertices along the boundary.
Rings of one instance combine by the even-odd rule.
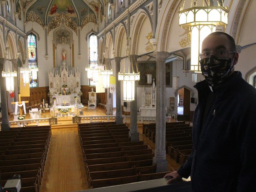
[[[131,67],[133,64],[133,69],[136,69],[134,66],[135,63],[132,63],[132,60],[137,62],[138,55],[136,54],[131,54],[129,55],[129,59],[131,61]],[[135,73],[137,73],[135,71]],[[137,123],[137,85],[135,82],[135,91],[134,91],[134,101],[130,102],[130,107],[131,107],[131,124],[130,124],[130,136],[131,136],[131,141],[139,141],[139,133],[138,133],[138,123]]]

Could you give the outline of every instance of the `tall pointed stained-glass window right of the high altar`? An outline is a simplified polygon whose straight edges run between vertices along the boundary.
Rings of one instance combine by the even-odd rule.
[[[97,35],[92,33],[89,35],[89,65],[90,67],[97,66],[98,60],[98,39]],[[90,85],[96,85],[93,79],[90,80]]]

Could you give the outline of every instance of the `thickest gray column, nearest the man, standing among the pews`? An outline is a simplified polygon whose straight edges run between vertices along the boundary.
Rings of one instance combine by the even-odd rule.
[[[156,148],[153,163],[157,164],[156,172],[167,171],[167,160],[165,150],[165,129],[166,129],[166,80],[165,80],[165,61],[169,56],[168,52],[154,52],[157,61],[157,119],[156,119]]]

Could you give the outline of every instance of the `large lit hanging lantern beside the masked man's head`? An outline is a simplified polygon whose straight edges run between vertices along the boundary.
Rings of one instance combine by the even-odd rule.
[[[202,0],[202,6],[197,6],[197,0],[194,4],[191,0],[191,7],[183,10],[185,1],[179,11],[179,25],[191,31],[190,69],[196,73],[201,73],[199,53],[202,50],[202,41],[208,34],[216,31],[216,26],[226,27],[228,10],[222,6],[223,0],[218,0],[217,7],[210,6],[210,0],[208,0],[207,6],[204,6],[204,0]]]

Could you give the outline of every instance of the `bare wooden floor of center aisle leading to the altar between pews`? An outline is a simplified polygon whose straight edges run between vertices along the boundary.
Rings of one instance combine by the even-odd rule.
[[[52,128],[52,138],[40,192],[88,189],[77,126]]]

